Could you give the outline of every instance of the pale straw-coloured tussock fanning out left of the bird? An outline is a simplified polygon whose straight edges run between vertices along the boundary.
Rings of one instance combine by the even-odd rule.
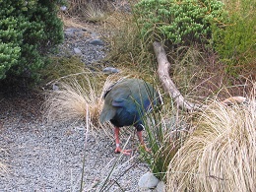
[[[87,108],[94,119],[100,110],[100,96],[96,94],[95,86],[88,79],[88,87],[85,89],[77,79],[59,82],[55,91],[47,93],[44,102],[44,117],[47,122],[84,120]]]

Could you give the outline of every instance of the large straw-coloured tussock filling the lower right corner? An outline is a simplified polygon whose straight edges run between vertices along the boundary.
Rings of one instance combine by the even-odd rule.
[[[251,97],[248,104],[216,102],[202,112],[196,130],[169,163],[168,191],[256,190],[255,94]]]

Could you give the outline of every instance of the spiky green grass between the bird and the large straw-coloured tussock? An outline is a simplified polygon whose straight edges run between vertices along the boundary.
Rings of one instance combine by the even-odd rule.
[[[160,180],[165,179],[169,162],[182,145],[186,135],[185,126],[181,115],[177,117],[174,110],[169,107],[165,107],[163,111],[154,109],[147,120],[145,119],[145,131],[151,152],[140,148],[141,158],[150,165]]]

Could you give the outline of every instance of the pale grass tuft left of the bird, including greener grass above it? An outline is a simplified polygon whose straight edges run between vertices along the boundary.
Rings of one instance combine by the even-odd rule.
[[[116,78],[110,76],[105,82],[99,82],[99,78],[89,75],[80,79],[69,77],[57,82],[57,89],[45,94],[46,99],[42,105],[44,120],[49,124],[84,121],[88,109],[92,130],[97,133],[104,131],[108,135],[104,127],[109,126],[102,126],[98,117],[104,91]]]

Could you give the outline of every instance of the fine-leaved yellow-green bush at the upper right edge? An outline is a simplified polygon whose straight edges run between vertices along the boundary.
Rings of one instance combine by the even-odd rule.
[[[227,65],[227,70],[235,75],[237,67],[241,68],[243,64],[250,66],[255,58],[256,2],[232,0],[226,2],[225,6],[228,10],[226,26],[223,30],[215,30],[213,37],[215,48]]]

